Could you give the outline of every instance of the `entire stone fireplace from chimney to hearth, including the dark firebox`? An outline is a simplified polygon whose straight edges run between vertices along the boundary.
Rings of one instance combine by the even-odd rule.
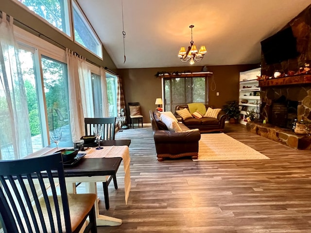
[[[274,72],[294,73],[260,80],[260,118],[267,124],[247,123],[247,130],[295,149],[311,149],[311,136],[295,134],[294,117],[311,122],[311,73],[298,75],[300,67],[311,62],[311,5],[294,17],[283,29],[292,27],[296,37],[296,58],[268,65],[261,54],[261,75],[273,77]]]

